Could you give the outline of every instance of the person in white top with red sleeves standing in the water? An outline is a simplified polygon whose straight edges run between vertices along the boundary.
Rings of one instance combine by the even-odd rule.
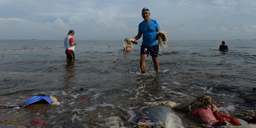
[[[68,35],[64,39],[64,45],[65,45],[65,53],[67,55],[67,61],[74,61],[74,46],[76,45],[76,42],[73,40],[74,36],[74,30],[70,30],[68,32]]]

